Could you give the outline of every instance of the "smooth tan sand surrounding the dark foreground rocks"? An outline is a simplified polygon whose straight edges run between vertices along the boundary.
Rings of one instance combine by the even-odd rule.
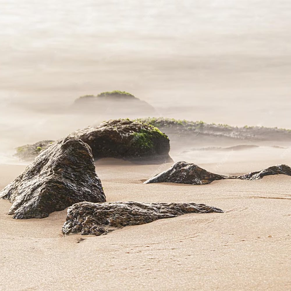
[[[6,215],[11,204],[0,200],[0,290],[291,288],[291,177],[221,180],[201,186],[142,184],[140,180],[170,164],[107,162],[96,166],[107,201],[205,203],[225,213],[186,214],[100,237],[63,237],[66,210],[45,219],[15,220]],[[23,169],[1,165],[0,187]],[[234,162],[221,170],[232,169],[237,172]],[[244,165],[239,173],[245,173]]]

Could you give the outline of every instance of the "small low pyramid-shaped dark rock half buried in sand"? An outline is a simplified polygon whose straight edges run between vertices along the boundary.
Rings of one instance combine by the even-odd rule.
[[[173,164],[173,166],[171,166],[171,168],[168,170],[148,179],[144,182],[144,184],[171,182],[180,184],[203,185],[209,184],[214,180],[221,180],[225,178],[232,177],[210,173],[195,164],[177,162]]]

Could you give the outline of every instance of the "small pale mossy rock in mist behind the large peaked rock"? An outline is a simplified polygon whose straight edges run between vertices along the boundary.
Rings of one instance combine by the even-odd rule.
[[[54,141],[38,141],[32,145],[22,145],[16,148],[15,156],[24,161],[33,160],[38,154],[46,150]]]

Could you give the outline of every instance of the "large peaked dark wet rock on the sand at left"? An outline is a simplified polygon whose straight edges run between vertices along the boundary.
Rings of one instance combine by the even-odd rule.
[[[91,149],[74,138],[41,152],[0,198],[13,203],[8,214],[17,219],[47,217],[80,201],[106,201]]]

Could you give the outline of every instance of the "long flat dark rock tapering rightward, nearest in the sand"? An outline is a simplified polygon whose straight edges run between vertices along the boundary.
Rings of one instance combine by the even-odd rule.
[[[80,202],[68,208],[63,234],[105,235],[127,225],[149,223],[186,213],[210,213],[219,208],[195,203]]]

